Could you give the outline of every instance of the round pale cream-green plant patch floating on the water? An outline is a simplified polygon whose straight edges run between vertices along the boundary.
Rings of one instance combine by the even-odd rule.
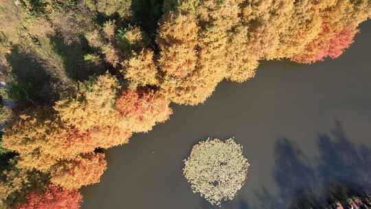
[[[193,192],[199,192],[212,205],[232,200],[245,183],[249,163],[243,146],[234,138],[222,141],[207,138],[194,145],[184,160],[183,175]]]

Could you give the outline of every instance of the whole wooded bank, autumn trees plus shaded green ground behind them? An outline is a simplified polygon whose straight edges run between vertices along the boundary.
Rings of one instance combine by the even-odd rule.
[[[262,60],[337,58],[370,17],[368,0],[0,0],[0,208],[79,208],[104,149],[171,103]]]

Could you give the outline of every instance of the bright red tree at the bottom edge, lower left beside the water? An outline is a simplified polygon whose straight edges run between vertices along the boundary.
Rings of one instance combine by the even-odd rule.
[[[17,206],[17,209],[77,209],[80,208],[82,195],[78,190],[49,184],[44,192],[30,192],[26,196],[27,201]]]

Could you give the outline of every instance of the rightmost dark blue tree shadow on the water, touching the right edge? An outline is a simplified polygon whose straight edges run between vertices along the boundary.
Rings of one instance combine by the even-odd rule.
[[[353,144],[341,122],[335,122],[332,135],[319,135],[318,146],[321,153],[319,172],[325,184],[335,180],[352,190],[371,188],[371,149],[365,144]]]

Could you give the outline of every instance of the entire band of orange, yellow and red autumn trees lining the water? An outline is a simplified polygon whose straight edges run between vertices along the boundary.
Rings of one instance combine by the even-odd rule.
[[[30,12],[31,4],[25,2]],[[71,25],[86,23],[83,35],[96,49],[89,55],[104,59],[111,73],[71,85],[52,107],[22,111],[5,129],[2,146],[18,155],[12,165],[15,171],[8,171],[6,182],[0,184],[1,201],[24,196],[25,188],[32,188],[27,184],[32,172],[60,186],[29,193],[23,207],[70,203],[78,208],[81,197],[76,189],[98,182],[106,169],[104,154],[96,153],[97,148],[125,144],[133,133],[150,131],[168,120],[170,102],[199,104],[224,79],[253,78],[260,60],[313,63],[337,58],[353,42],[359,23],[371,17],[368,0],[164,0],[157,33],[146,34],[135,25],[131,1],[80,4],[89,8],[83,14],[111,16],[99,25],[70,14],[76,12],[68,13],[75,21],[63,24],[62,10],[54,13],[52,5],[45,1],[51,24],[38,17],[36,23],[47,25],[47,30],[40,34],[34,28],[32,36],[45,39],[46,34],[57,34],[52,30],[76,36]],[[124,22],[127,19],[130,24]],[[2,25],[9,30],[6,36],[12,33],[11,24]],[[80,26],[78,32],[84,31]],[[70,197],[76,201],[69,202]]]

